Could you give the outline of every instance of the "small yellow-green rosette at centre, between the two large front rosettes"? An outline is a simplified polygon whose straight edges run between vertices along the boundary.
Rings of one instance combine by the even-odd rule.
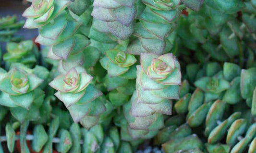
[[[133,65],[136,61],[134,55],[112,49],[106,51],[106,56],[100,60],[100,64],[108,70],[108,75],[110,77],[123,76],[124,78],[127,78],[125,76],[132,76],[131,78],[135,78],[136,74],[135,71],[133,71],[135,66]]]

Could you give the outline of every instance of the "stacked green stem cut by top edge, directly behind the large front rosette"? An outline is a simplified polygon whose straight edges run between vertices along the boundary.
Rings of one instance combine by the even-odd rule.
[[[138,15],[139,22],[135,23],[134,39],[127,51],[131,54],[154,53],[161,55],[172,48],[172,38],[175,33],[175,21],[179,18],[180,0],[141,0],[146,5]],[[159,29],[159,27],[162,27]]]

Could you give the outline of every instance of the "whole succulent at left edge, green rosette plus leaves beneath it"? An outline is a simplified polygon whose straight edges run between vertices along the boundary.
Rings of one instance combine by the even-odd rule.
[[[23,122],[24,120],[37,120],[39,108],[44,100],[44,91],[38,87],[49,76],[45,71],[44,76],[37,76],[40,66],[33,70],[23,65],[14,65],[7,73],[2,70],[0,80],[1,103],[10,108],[12,116]],[[45,69],[43,69],[45,70]]]

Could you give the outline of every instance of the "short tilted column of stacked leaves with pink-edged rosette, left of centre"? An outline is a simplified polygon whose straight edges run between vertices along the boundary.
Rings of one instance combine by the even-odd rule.
[[[87,129],[96,125],[99,115],[106,110],[104,100],[98,98],[102,93],[90,84],[92,79],[83,67],[78,66],[49,83],[57,90],[55,96],[67,107],[73,120],[80,121]]]

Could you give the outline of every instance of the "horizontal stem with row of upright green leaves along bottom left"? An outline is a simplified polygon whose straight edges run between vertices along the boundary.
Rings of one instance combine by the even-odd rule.
[[[127,152],[132,153],[132,147],[129,142],[120,140],[117,128],[111,128],[107,133],[101,125],[97,125],[90,130],[81,128],[77,123],[73,123],[69,129],[60,127],[60,119],[54,118],[46,132],[45,127],[38,124],[33,129],[33,135],[27,134],[29,122],[24,122],[20,126],[20,145],[22,153],[34,152],[52,152],[53,143],[56,150],[61,153],[79,153],[83,152]],[[8,150],[14,151],[15,131],[13,126],[8,123],[5,127]],[[31,146],[29,139],[32,141]],[[82,142],[82,143],[81,143]],[[17,143],[17,142],[16,142]],[[30,148],[31,147],[31,148]]]

